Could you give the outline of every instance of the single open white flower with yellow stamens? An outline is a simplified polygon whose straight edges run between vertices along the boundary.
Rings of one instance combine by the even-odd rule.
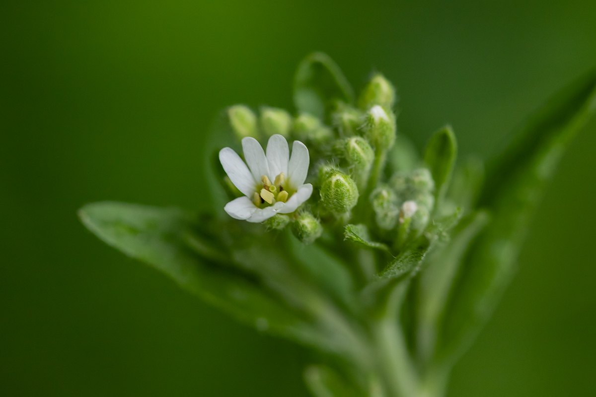
[[[244,193],[224,207],[232,218],[262,222],[275,214],[296,211],[311,197],[312,185],[304,183],[309,164],[304,143],[294,140],[291,158],[288,142],[281,135],[269,138],[267,155],[253,137],[242,140],[242,149],[248,167],[231,148],[219,151],[219,161],[226,174]]]

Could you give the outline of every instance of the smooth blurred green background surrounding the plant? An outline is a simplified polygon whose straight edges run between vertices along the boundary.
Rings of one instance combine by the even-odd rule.
[[[489,158],[596,64],[594,1],[19,1],[0,5],[0,395],[306,396],[299,346],[123,257],[76,210],[206,205],[204,133],[237,102],[291,107],[325,51],[399,88],[419,147],[452,123]],[[520,271],[449,396],[596,393],[596,122],[564,157]]]

